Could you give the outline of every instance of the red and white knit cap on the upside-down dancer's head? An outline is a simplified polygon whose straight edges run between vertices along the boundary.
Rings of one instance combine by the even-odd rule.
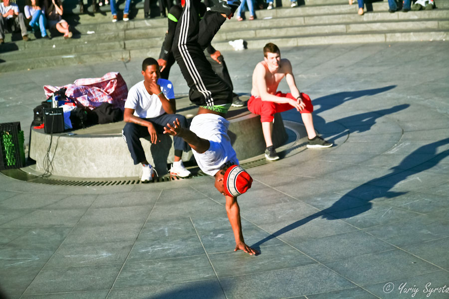
[[[238,196],[251,188],[252,177],[241,166],[232,165],[225,172],[225,193]]]

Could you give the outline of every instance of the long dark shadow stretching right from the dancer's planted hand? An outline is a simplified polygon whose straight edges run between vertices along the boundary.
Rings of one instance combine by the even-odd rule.
[[[284,228],[272,233],[270,236],[251,245],[252,248],[260,248],[263,243],[276,238],[286,232],[300,227],[307,222],[322,217],[328,220],[345,219],[362,214],[372,207],[371,201],[376,198],[394,198],[407,192],[390,191],[399,182],[407,179],[410,175],[428,170],[437,165],[442,159],[449,155],[449,149],[437,154],[439,147],[449,144],[449,138],[437,141],[416,149],[406,156],[399,165],[391,168],[392,172],[381,177],[374,178],[352,189],[337,200],[332,206],[320,212],[310,215],[304,219],[293,222]],[[431,156],[430,156],[431,155]],[[421,159],[421,160],[420,160]],[[417,161],[418,160],[418,161]],[[414,167],[420,166],[418,171],[413,171]],[[376,182],[382,181],[382,187],[378,187]],[[358,207],[357,209],[354,209]],[[331,215],[340,211],[337,215]],[[342,212],[344,211],[344,212]]]

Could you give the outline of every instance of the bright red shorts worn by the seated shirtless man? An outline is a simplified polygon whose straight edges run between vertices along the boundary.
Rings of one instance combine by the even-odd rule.
[[[290,98],[293,100],[296,100],[291,93],[283,94],[282,92],[278,91],[276,92],[275,96],[277,97],[283,97],[283,98]],[[300,93],[301,99],[305,104],[305,108],[301,111],[301,113],[312,113],[313,112],[313,105],[312,101],[310,100],[309,96],[305,93]],[[248,110],[251,111],[254,114],[260,115],[260,121],[262,123],[265,122],[272,122],[274,119],[274,114],[279,112],[284,112],[287,110],[293,109],[293,106],[291,106],[288,103],[274,103],[269,101],[262,101],[260,97],[254,97],[251,96],[248,100]]]

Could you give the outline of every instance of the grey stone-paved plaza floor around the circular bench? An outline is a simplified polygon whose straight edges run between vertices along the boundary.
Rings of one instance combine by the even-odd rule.
[[[225,52],[248,94],[262,51]],[[211,177],[54,186],[0,174],[0,288],[10,299],[448,299],[449,42],[281,49],[335,146],[248,169],[233,252]],[[42,85],[141,61],[0,74],[0,123],[25,130]],[[179,68],[175,93],[188,92]],[[281,84],[281,90],[287,85]],[[284,120],[301,122],[289,111]],[[248,145],[250,146],[250,145]],[[303,145],[302,145],[303,146]],[[281,153],[282,154],[282,153]]]

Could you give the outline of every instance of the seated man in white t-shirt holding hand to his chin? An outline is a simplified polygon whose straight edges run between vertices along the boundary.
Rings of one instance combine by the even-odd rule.
[[[142,63],[143,81],[130,88],[125,102],[123,120],[127,123],[123,128],[123,138],[134,164],[142,164],[142,182],[152,181],[154,168],[148,163],[140,138],[150,136],[151,143],[158,142],[158,133],[164,132],[164,125],[179,119],[183,128],[187,128],[187,120],[176,113],[175,93],[169,80],[160,79],[159,65],[156,59],[146,58]],[[183,151],[189,151],[187,143],[179,137],[173,138],[175,159],[170,169],[171,175],[186,177],[190,175],[181,160]]]

